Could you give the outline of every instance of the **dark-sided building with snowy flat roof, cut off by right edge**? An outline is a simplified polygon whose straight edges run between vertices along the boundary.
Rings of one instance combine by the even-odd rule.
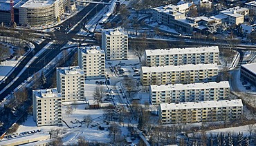
[[[240,77],[256,85],[256,63],[241,65]]]

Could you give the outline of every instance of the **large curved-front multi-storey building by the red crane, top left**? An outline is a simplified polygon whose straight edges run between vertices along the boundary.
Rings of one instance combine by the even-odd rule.
[[[60,19],[60,16],[68,8],[68,1],[18,0],[14,2],[13,8],[17,24],[31,26],[48,25]],[[0,22],[10,23],[10,1],[0,0]]]

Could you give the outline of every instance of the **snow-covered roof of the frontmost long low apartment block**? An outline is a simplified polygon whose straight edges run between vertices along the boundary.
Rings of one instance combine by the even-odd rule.
[[[241,99],[223,101],[201,101],[185,103],[161,103],[161,110],[202,109],[210,107],[242,107]]]

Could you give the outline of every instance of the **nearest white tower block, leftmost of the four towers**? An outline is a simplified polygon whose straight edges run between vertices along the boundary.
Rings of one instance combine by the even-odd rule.
[[[33,90],[33,118],[37,126],[62,125],[62,96],[56,88]]]

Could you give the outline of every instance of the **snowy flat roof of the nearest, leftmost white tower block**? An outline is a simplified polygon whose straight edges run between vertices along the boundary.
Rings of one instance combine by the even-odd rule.
[[[33,90],[37,98],[57,98],[62,97],[60,93],[57,92],[56,88],[50,88],[45,90]]]

